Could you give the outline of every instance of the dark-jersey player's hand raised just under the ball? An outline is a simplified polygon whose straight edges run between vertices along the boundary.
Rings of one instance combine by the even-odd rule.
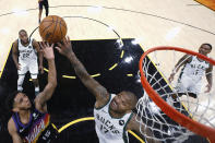
[[[44,57],[47,60],[52,60],[55,59],[55,55],[53,55],[53,44],[51,44],[51,46],[49,45],[49,43],[45,43],[41,41],[40,44],[41,47],[41,52],[44,53]]]

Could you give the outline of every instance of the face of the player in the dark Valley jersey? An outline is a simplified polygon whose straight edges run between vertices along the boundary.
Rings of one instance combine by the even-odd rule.
[[[32,104],[25,94],[19,93],[14,98],[14,107],[19,108],[20,110],[26,110],[32,107]]]

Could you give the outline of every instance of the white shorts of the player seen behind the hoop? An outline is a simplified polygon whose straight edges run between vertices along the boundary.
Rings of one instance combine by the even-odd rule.
[[[202,87],[202,80],[195,76],[182,74],[178,80],[176,91],[178,93],[194,93],[200,94]]]

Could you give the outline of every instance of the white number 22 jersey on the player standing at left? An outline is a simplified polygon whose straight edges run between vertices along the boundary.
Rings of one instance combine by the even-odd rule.
[[[29,38],[28,46],[23,46],[21,43],[21,39],[17,39],[17,48],[19,48],[19,63],[21,62],[27,62],[29,60],[36,60],[37,61],[37,55],[36,50],[33,48],[33,39]]]

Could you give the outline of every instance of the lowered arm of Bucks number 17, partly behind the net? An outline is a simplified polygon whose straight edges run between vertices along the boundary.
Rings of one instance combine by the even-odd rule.
[[[143,124],[140,124],[136,120],[136,115],[133,114],[133,117],[131,118],[131,120],[129,121],[128,126],[127,126],[127,130],[133,130],[135,131],[142,139],[145,139],[147,140],[147,143],[160,143],[159,141],[156,141],[156,140],[153,140],[153,133],[152,131],[144,127]],[[142,132],[140,131],[140,127],[142,128]],[[142,133],[146,134],[146,135],[143,135]],[[146,138],[146,136],[150,136],[150,138]]]

